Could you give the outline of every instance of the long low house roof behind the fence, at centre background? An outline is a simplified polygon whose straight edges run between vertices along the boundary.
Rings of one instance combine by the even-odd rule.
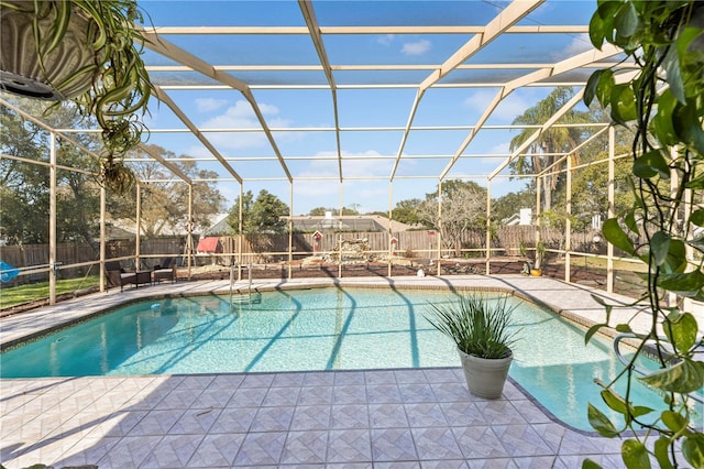
[[[289,217],[282,217],[288,221]],[[304,215],[292,218],[294,231],[407,231],[413,227],[400,221],[389,220],[381,215],[316,216]]]

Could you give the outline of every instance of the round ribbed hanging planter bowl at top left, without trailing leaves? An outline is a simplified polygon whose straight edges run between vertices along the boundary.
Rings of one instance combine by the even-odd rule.
[[[7,1],[7,0],[6,0]],[[10,0],[30,9],[32,2]],[[40,29],[52,24],[52,17]],[[9,8],[0,10],[0,87],[7,91],[45,100],[75,98],[92,84],[94,72],[76,73],[96,63],[91,42],[97,28],[91,20],[73,9],[66,35],[46,57],[44,69],[36,54],[32,14]],[[91,32],[94,37],[87,37]]]

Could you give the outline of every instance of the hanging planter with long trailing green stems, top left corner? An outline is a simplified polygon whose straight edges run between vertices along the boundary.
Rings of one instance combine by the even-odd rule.
[[[0,0],[0,89],[72,100],[102,129],[101,183],[124,192],[124,154],[141,142],[152,84],[136,0]]]

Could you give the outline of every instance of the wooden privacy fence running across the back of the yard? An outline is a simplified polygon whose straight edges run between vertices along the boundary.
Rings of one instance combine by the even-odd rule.
[[[535,249],[535,230],[532,226],[499,227],[492,234],[492,255],[520,255],[522,252],[530,252]],[[548,249],[564,249],[563,232],[554,229],[541,228],[540,237]],[[595,253],[600,248],[605,248],[605,243],[596,246],[594,236],[596,231],[573,232],[571,238],[572,251]],[[435,230],[400,231],[393,232],[391,237],[396,242],[389,244],[389,233],[372,232],[323,232],[316,240],[312,233],[295,233],[293,236],[292,254],[295,260],[299,260],[315,253],[326,253],[336,251],[340,239],[352,241],[365,239],[370,250],[378,258],[388,253],[389,247],[396,255],[407,255],[416,258],[435,258],[438,249],[438,233]],[[242,246],[240,255],[239,247]],[[483,230],[468,231],[461,237],[461,255],[484,257],[486,255],[486,232]],[[194,250],[198,242],[194,240]],[[202,265],[208,263],[219,263],[230,265],[231,263],[267,263],[288,260],[288,234],[243,234],[241,241],[238,236],[220,238],[221,252],[218,253],[195,253],[194,264]],[[136,253],[135,241],[111,240],[107,242],[106,257],[128,258]],[[162,257],[178,257],[179,263],[184,265],[186,254],[186,237],[144,239],[140,243],[141,268],[151,268],[160,263]],[[84,265],[68,269],[72,264],[89,263],[99,260],[99,250],[85,243],[61,243],[56,250],[57,262],[62,264],[64,277],[75,277],[85,275],[88,269],[98,272],[96,266]],[[442,247],[442,255],[455,255],[454,248]],[[48,268],[48,244],[24,244],[3,246],[0,248],[0,260],[20,269],[32,269],[36,266]],[[13,282],[26,283],[46,280],[48,273],[37,269],[36,273],[31,271],[16,277]]]

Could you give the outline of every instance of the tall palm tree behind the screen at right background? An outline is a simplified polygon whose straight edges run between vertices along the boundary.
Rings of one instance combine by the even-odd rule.
[[[514,124],[525,126],[542,126],[548,119],[550,119],[562,106],[568,102],[574,91],[572,87],[559,86],[544,99],[539,101],[532,108],[526,109],[526,111],[514,119]],[[584,123],[593,121],[591,112],[575,111],[574,109],[568,111],[561,119],[560,123]],[[512,151],[520,146],[532,133],[535,129],[528,128],[514,137],[510,141]],[[582,140],[583,129],[579,127],[559,127],[550,128],[542,132],[542,134],[536,139],[528,152],[531,153],[530,157],[525,155],[518,155],[518,159],[512,163],[512,170],[515,174],[539,174],[546,168],[550,167],[560,157],[559,153],[566,152],[570,149],[576,146]],[[573,153],[571,155],[573,162],[579,161],[579,154]],[[554,168],[558,170],[557,167]],[[542,187],[543,194],[543,208],[549,210],[552,207],[552,193],[558,187],[558,176],[554,171],[544,176],[544,184]]]

